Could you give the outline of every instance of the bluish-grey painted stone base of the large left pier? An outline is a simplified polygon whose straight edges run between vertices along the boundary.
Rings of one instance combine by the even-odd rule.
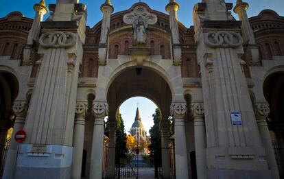
[[[14,178],[71,178],[73,147],[46,145],[45,153],[33,153],[33,145],[21,145]]]

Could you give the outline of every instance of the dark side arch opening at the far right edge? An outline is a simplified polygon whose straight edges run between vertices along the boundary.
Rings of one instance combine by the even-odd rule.
[[[270,105],[268,126],[281,178],[284,177],[284,71],[274,72],[265,78],[263,93]]]

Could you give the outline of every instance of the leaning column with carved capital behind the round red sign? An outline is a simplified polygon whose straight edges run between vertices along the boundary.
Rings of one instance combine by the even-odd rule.
[[[16,167],[16,157],[19,150],[19,143],[15,141],[15,134],[19,130],[23,129],[25,124],[25,115],[26,115],[26,102],[25,101],[16,101],[13,104],[13,111],[16,115],[14,122],[13,133],[11,136],[10,147],[8,150],[7,158],[5,162],[5,167],[3,171],[3,178],[12,179],[14,178],[14,169]]]

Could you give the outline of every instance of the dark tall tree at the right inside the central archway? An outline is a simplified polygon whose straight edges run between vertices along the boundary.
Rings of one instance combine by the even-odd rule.
[[[154,120],[154,126],[150,129],[151,143],[150,143],[150,158],[154,161],[155,168],[155,178],[158,178],[158,167],[162,165],[162,154],[161,154],[161,132],[159,128],[159,123],[161,120],[160,111],[156,109],[155,113],[152,115]]]

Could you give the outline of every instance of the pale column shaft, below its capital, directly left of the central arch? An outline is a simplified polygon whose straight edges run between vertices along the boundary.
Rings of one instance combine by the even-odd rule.
[[[103,150],[104,150],[104,119],[97,118],[95,119],[95,125],[93,131],[90,179],[102,178]]]

